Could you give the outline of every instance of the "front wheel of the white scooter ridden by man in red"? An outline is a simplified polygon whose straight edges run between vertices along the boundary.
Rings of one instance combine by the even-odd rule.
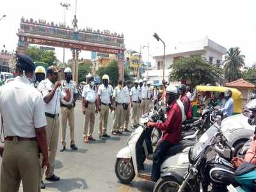
[[[135,171],[132,164],[132,160],[129,163],[127,163],[125,162],[125,159],[116,159],[115,173],[116,177],[120,180],[120,182],[125,184],[130,183],[135,177]]]

